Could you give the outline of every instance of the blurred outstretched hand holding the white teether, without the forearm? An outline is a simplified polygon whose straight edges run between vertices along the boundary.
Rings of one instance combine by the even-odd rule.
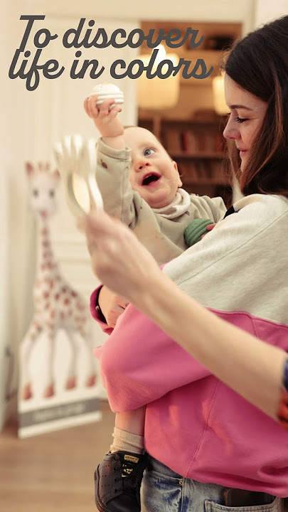
[[[149,291],[161,274],[154,257],[132,230],[102,210],[86,216],[85,232],[93,272],[115,294],[137,305],[139,294]]]

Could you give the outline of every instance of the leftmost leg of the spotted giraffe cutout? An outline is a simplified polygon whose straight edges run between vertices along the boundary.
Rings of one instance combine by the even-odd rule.
[[[21,400],[30,400],[33,397],[29,361],[31,351],[41,331],[41,326],[33,322],[20,346]]]

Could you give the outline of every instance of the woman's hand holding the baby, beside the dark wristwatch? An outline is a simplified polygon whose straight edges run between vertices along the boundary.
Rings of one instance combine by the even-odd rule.
[[[111,290],[105,286],[100,289],[98,303],[107,321],[107,326],[113,329],[119,316],[122,315],[127,306],[129,306],[127,299],[115,295],[114,292],[111,292]]]

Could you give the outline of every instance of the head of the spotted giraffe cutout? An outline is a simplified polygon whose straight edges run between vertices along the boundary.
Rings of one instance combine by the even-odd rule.
[[[31,209],[36,217],[44,220],[56,211],[55,192],[60,181],[59,171],[50,171],[48,162],[39,162],[37,165],[26,162],[26,173]]]

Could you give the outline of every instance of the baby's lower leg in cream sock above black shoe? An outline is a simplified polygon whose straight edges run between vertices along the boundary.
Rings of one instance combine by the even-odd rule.
[[[132,411],[117,412],[111,452],[143,452],[145,412],[145,406]]]

